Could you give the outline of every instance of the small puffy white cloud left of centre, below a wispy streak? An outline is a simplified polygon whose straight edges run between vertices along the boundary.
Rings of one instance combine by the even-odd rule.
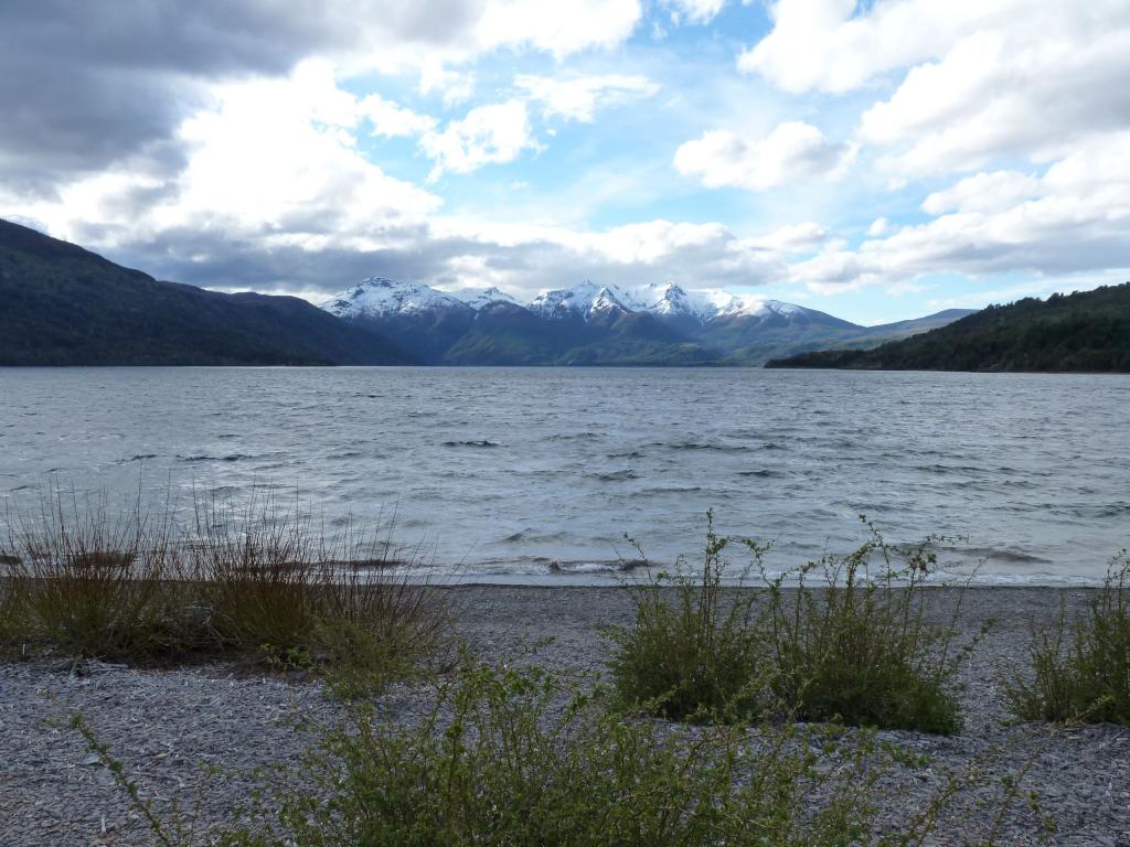
[[[512,99],[472,108],[442,132],[425,133],[420,147],[435,159],[429,177],[435,180],[445,172],[468,174],[484,165],[513,161],[523,150],[538,149],[538,142],[525,103]]]

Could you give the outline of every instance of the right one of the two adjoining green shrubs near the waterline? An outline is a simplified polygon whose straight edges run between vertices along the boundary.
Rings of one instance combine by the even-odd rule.
[[[779,697],[803,721],[949,734],[962,717],[954,676],[981,634],[960,648],[962,592],[949,626],[927,617],[927,585],[937,558],[928,539],[912,548],[871,538],[847,556],[826,556],[770,582],[767,627]],[[877,568],[872,568],[872,561]],[[810,576],[822,576],[812,587]]]

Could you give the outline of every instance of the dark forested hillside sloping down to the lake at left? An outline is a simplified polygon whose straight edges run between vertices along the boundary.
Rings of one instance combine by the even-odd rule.
[[[0,365],[381,365],[407,356],[295,297],[160,282],[0,220]]]

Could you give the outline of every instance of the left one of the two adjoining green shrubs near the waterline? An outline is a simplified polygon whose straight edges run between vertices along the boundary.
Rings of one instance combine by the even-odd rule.
[[[744,718],[763,708],[756,596],[722,587],[729,543],[714,533],[707,513],[697,574],[680,559],[672,574],[631,585],[635,623],[603,630],[614,648],[608,664],[623,706],[676,719]],[[759,565],[767,547],[745,543]]]

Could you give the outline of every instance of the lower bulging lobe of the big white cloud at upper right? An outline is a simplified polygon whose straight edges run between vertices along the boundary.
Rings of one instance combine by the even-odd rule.
[[[912,69],[887,101],[863,113],[860,138],[888,149],[887,169],[915,175],[1007,156],[1048,160],[1124,126],[1130,7],[1123,5],[1121,20],[1036,17],[970,35],[940,61]]]

